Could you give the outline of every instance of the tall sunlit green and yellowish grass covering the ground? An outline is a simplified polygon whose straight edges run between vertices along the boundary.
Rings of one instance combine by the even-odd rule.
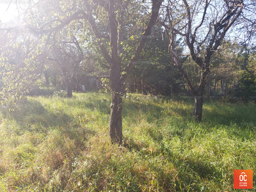
[[[255,104],[208,100],[196,123],[193,100],[129,95],[122,147],[109,105],[75,93],[1,108],[0,191],[235,191],[234,169],[256,172]]]

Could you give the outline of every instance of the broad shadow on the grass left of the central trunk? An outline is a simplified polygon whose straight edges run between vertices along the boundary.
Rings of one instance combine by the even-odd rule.
[[[2,115],[8,119],[5,127],[10,125],[10,128],[7,128],[6,131],[12,130],[20,137],[26,135],[26,132],[42,134],[43,137],[52,137],[54,136],[52,132],[57,132],[56,135],[59,136],[56,136],[56,142],[58,140],[61,143],[64,142],[62,141],[63,138],[68,138],[67,141],[64,139],[65,143],[71,142],[79,150],[84,150],[86,148],[84,141],[97,134],[97,131],[86,127],[74,116],[58,109],[51,111],[51,109],[44,108],[39,101],[34,99],[28,100],[26,104],[15,109],[15,111],[8,111],[4,108],[0,110]],[[12,122],[15,123],[12,125]]]

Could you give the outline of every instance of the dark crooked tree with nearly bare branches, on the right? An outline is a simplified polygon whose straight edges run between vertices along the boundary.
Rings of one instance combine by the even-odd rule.
[[[207,75],[211,69],[211,57],[218,50],[228,30],[234,26],[243,12],[243,0],[236,1],[172,1],[165,6],[161,24],[170,38],[169,52],[177,67],[186,79],[195,98],[193,116],[202,120],[202,106]],[[177,54],[175,40],[185,38],[191,59],[200,67],[199,83],[194,85],[180,63],[182,55]],[[186,54],[186,52],[185,52]]]

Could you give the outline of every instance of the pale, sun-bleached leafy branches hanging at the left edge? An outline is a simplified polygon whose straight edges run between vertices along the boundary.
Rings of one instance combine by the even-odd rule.
[[[12,106],[42,76],[46,50],[35,36],[20,29],[3,30],[1,37],[1,102]]]

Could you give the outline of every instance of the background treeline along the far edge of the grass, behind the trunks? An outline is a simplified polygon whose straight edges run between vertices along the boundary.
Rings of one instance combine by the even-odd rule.
[[[9,40],[12,39],[13,42],[12,47],[8,44],[8,47],[2,48],[2,56],[4,57],[1,58],[1,61],[4,64],[1,70],[1,90],[4,90],[4,84],[6,86],[6,76],[14,73],[11,65],[18,65],[15,62],[20,65],[22,57],[26,54],[24,45],[19,45],[19,40],[15,41],[13,39],[15,35],[8,33],[8,36]],[[2,33],[2,37],[6,39],[6,33]],[[93,44],[93,42],[91,43]],[[177,40],[176,44],[180,47],[179,49],[182,49],[182,45],[179,45],[182,42]],[[75,49],[75,47],[72,48]],[[72,61],[61,63],[60,66],[60,63],[57,65],[58,62],[56,63],[54,59],[48,58],[41,68],[39,63],[35,65],[34,70],[29,68],[29,72],[24,74],[26,78],[39,74],[38,77],[36,76],[33,79],[33,83],[26,87],[29,90],[29,95],[52,95],[55,91],[67,90],[67,79],[65,79],[67,76],[73,76],[73,92],[83,91],[82,84],[86,91],[104,88],[106,83],[104,78],[109,77],[109,67],[104,59],[100,58],[99,50],[93,45],[90,51],[87,49],[88,47],[83,47],[83,52],[86,54],[84,54],[83,60],[77,67],[72,65]],[[250,73],[244,68],[244,61],[246,61],[246,68],[250,71],[255,71],[255,52],[255,47],[247,48],[247,52],[245,52],[241,42],[223,41],[220,49],[211,60],[212,72],[207,80],[205,95],[212,97],[230,96],[235,100],[255,100],[255,73]],[[32,54],[31,58],[35,58],[35,56],[36,53],[35,55]],[[76,53],[74,53],[73,57],[77,57]],[[25,67],[25,63],[23,65]],[[191,61],[189,56],[182,58],[182,65],[188,71],[191,81],[195,84],[198,83],[200,68]],[[9,71],[8,67],[10,67]],[[22,68],[19,68],[19,70],[17,73],[22,73]],[[9,76],[8,78],[10,79]],[[137,61],[131,74],[129,74],[126,88],[131,93],[191,95],[188,84],[177,68],[173,67],[173,61],[168,52],[168,38],[166,38],[164,31],[161,30],[161,26],[154,27],[150,40],[141,53],[140,60]],[[18,92],[18,89],[17,87],[15,90]]]

